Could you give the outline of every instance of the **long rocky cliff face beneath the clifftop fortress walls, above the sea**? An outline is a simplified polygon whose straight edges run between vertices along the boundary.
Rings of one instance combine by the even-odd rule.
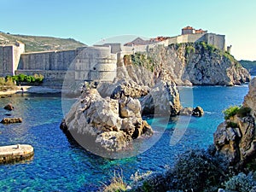
[[[205,43],[158,46],[148,55],[135,54],[131,59],[125,58],[124,63],[126,74],[143,84],[146,79],[148,84],[154,82],[162,67],[177,85],[234,85],[250,80],[247,69],[241,67],[232,55]],[[141,66],[146,70],[138,69]],[[119,75],[124,75],[124,70],[120,72]]]

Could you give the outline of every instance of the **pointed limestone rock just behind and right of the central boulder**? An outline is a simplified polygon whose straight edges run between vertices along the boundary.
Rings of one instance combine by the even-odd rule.
[[[182,108],[179,93],[173,81],[160,80],[142,99],[143,114],[177,115]]]

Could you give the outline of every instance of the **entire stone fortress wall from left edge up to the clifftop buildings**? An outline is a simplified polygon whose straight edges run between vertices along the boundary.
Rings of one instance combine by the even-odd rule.
[[[162,38],[162,37],[160,37]],[[147,52],[155,46],[195,43],[205,41],[225,50],[225,36],[187,26],[182,34],[172,38],[135,39],[128,44],[100,44],[68,50],[52,50],[25,53],[25,45],[0,45],[0,76],[25,73],[44,75],[44,85],[61,86],[63,79],[113,81],[116,69],[123,63],[124,55]]]

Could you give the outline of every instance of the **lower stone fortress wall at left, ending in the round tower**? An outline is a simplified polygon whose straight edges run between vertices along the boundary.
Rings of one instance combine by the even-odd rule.
[[[23,50],[20,49],[23,47]],[[44,85],[61,87],[63,79],[112,81],[116,54],[110,46],[24,53],[21,46],[0,46],[0,76],[44,75]]]

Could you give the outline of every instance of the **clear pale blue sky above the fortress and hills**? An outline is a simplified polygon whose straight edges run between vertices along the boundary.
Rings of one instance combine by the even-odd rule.
[[[237,60],[256,61],[255,0],[0,0],[0,31],[93,45],[122,35],[177,36],[184,26],[225,35]]]

